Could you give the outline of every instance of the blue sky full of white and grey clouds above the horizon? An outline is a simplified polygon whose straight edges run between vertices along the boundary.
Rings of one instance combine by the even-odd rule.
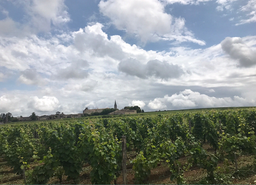
[[[0,113],[256,106],[256,0],[0,0]]]

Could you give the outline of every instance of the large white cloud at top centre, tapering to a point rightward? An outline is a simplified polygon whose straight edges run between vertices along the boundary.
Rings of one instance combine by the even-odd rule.
[[[135,34],[143,43],[163,39],[205,45],[187,30],[184,18],[165,13],[164,4],[158,0],[101,0],[98,6],[117,29]]]

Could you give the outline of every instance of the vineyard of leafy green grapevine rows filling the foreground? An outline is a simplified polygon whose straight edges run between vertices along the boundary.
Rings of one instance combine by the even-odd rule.
[[[184,173],[193,169],[205,171],[201,183],[222,184],[218,172],[238,178],[246,170],[237,158],[255,159],[255,128],[256,108],[8,124],[0,127],[0,166],[11,168],[13,178],[22,179],[25,171],[27,184],[48,184],[51,178],[56,184],[85,178],[113,184],[122,176],[126,136],[130,183],[149,184],[151,171],[162,165],[177,184],[186,184]],[[255,166],[248,173],[255,175]],[[86,177],[84,168],[90,169]],[[2,173],[0,178],[10,183]]]

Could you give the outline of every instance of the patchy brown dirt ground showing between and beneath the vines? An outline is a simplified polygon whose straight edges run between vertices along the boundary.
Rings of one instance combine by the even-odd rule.
[[[130,156],[135,156],[133,153]],[[238,167],[242,168],[246,165],[252,163],[254,156],[239,156]],[[132,170],[132,164],[129,163],[131,158],[128,157],[127,161],[127,184],[134,184],[134,171]],[[22,176],[16,175],[12,173],[10,167],[3,165],[3,162],[0,161],[0,184],[24,184],[24,180]],[[222,168],[223,164],[220,163],[219,167]],[[229,163],[229,169],[232,173],[235,171],[235,165],[231,162]],[[80,175],[79,184],[91,184],[90,180],[90,170],[91,167],[89,165],[84,165],[83,172]],[[218,170],[217,170],[218,171]],[[246,172],[245,172],[246,173]],[[171,172],[166,163],[161,163],[155,169],[151,170],[151,174],[149,177],[149,184],[176,184],[176,181],[170,180]],[[195,184],[198,183],[199,180],[206,177],[206,171],[201,168],[192,167],[190,170],[184,173],[185,184]],[[72,181],[67,181],[67,177],[63,176],[61,184],[72,184]],[[49,184],[60,184],[59,179],[56,177],[51,178]],[[114,181],[111,182],[114,184]],[[117,184],[123,184],[122,174],[117,178]],[[231,178],[228,184],[256,184],[256,172],[246,178]]]

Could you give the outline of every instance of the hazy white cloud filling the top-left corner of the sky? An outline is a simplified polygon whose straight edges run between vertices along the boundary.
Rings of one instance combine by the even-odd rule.
[[[5,36],[29,36],[31,33],[49,32],[60,28],[71,20],[64,0],[10,0],[24,12],[23,18],[12,19],[8,11],[2,13],[6,18],[0,20],[0,34]],[[1,5],[0,5],[1,8]]]

